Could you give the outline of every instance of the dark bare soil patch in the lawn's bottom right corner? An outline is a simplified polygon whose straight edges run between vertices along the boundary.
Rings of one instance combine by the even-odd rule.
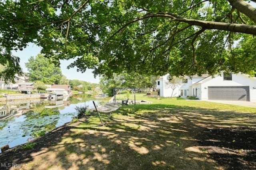
[[[256,128],[206,128],[197,139],[202,150],[227,169],[256,169]]]

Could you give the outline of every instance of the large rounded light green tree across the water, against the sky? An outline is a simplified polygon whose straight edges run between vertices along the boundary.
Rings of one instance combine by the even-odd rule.
[[[42,54],[38,54],[35,58],[30,57],[25,63],[28,69],[30,81],[42,81],[45,84],[59,84],[62,77],[60,67],[50,63],[49,59]]]

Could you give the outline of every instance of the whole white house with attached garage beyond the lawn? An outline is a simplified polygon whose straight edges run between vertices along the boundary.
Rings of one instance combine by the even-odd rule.
[[[168,75],[160,76],[156,88],[160,97],[170,97],[172,89]],[[241,73],[202,76],[185,76],[183,82],[174,89],[173,96],[196,96],[200,100],[256,101],[256,77]]]

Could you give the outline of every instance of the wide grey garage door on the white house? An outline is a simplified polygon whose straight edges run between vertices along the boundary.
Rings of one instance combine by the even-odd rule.
[[[250,101],[249,86],[209,86],[208,100]]]

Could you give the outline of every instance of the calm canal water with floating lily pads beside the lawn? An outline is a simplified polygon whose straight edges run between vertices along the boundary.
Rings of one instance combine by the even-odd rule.
[[[64,101],[59,101],[64,103]],[[99,101],[95,101],[98,103]],[[41,134],[50,132],[56,127],[72,121],[77,116],[76,107],[94,107],[92,100],[76,101],[76,104],[49,105],[40,103],[26,113],[0,121],[0,147],[9,145],[10,148],[29,142]],[[28,105],[28,104],[27,104]],[[58,107],[59,106],[59,107]],[[12,106],[14,107],[14,106]],[[21,108],[21,106],[20,106]],[[18,112],[19,109],[16,109]],[[1,151],[0,151],[1,152]]]

